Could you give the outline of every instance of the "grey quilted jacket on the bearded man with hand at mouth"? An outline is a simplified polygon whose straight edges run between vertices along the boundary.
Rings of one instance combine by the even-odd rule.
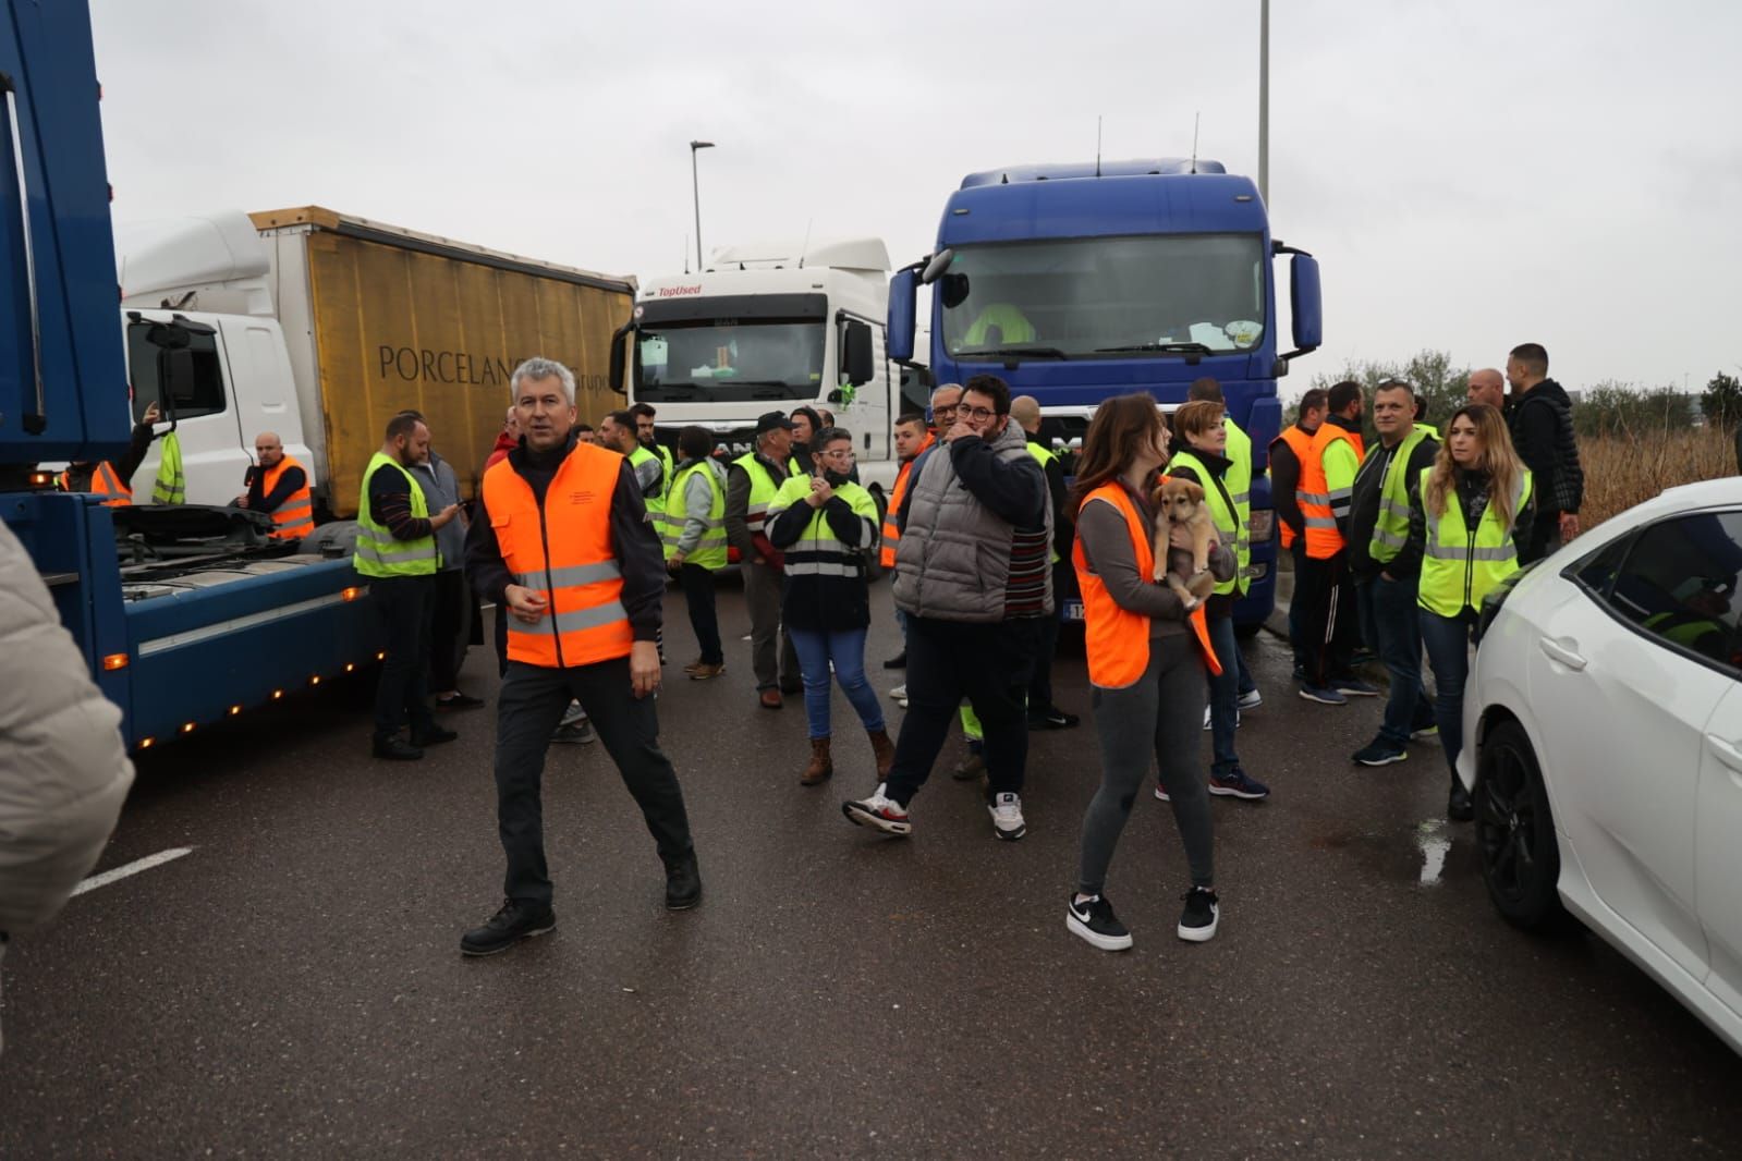
[[[925,453],[902,503],[895,604],[941,621],[1052,613],[1052,503],[1016,423]]]

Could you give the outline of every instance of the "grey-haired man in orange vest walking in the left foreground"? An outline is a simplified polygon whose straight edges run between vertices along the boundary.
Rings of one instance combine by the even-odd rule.
[[[658,748],[653,695],[665,562],[627,460],[575,439],[575,374],[528,359],[510,378],[523,446],[484,473],[465,564],[509,621],[496,696],[502,909],[460,950],[491,956],[556,926],[544,851],[545,745],[578,700],[665,863],[665,907],[702,900],[690,820]]]

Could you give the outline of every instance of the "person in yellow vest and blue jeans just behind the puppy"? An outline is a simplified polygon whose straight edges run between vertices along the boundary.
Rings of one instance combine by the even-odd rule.
[[[1221,423],[1221,404],[1198,399],[1174,413],[1174,446],[1167,473],[1176,480],[1190,480],[1204,489],[1204,505],[1216,524],[1216,540],[1237,545],[1240,512],[1228,494],[1226,475],[1233,463],[1226,458],[1228,428]],[[1239,648],[1233,641],[1233,602],[1239,599],[1239,576],[1216,585],[1204,602],[1209,616],[1209,639],[1216,646],[1221,674],[1209,679],[1209,736],[1211,766],[1209,792],[1237,799],[1259,801],[1270,795],[1270,787],[1249,778],[1240,769],[1240,755],[1233,752],[1233,731],[1240,724]],[[1158,789],[1155,797],[1165,797]]]

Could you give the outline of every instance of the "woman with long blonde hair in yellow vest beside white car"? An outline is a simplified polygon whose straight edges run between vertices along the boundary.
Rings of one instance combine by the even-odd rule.
[[[1472,815],[1470,795],[1458,782],[1470,630],[1482,599],[1519,571],[1529,513],[1531,477],[1512,449],[1505,419],[1484,404],[1458,407],[1446,421],[1434,466],[1421,472],[1409,496],[1409,536],[1421,545],[1421,642],[1434,670],[1434,721],[1451,768],[1446,816],[1455,822]]]

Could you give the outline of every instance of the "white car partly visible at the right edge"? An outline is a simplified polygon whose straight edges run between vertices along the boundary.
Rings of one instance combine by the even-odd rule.
[[[1571,912],[1742,1051],[1742,477],[1489,597],[1458,776],[1495,907]]]

